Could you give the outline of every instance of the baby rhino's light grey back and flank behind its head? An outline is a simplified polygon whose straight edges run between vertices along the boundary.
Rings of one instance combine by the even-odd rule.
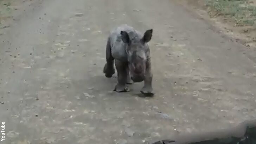
[[[122,41],[121,31],[126,31],[129,34],[130,39],[135,37],[142,38],[140,32],[136,31],[133,27],[128,26],[127,24],[122,24],[119,27],[115,28],[110,33],[110,46],[111,54],[115,59],[122,61],[127,61],[127,44]]]

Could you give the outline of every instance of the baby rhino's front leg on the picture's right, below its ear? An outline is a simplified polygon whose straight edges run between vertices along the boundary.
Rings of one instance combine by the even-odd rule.
[[[144,80],[144,86],[141,89],[141,93],[145,95],[152,95],[153,93],[153,88],[152,88],[152,79],[153,79],[153,74],[151,72],[151,59],[149,58],[146,61],[146,76]]]

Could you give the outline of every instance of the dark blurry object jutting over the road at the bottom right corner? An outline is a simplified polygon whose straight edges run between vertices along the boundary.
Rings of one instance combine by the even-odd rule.
[[[223,131],[186,135],[174,139],[160,140],[153,144],[256,144],[256,120],[246,121]]]

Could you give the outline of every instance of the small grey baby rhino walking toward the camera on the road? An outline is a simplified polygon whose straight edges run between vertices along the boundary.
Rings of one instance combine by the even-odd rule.
[[[153,30],[147,30],[143,35],[126,24],[115,28],[109,35],[106,46],[107,63],[103,72],[107,78],[112,77],[117,70],[117,84],[114,91],[128,92],[126,84],[144,81],[141,89],[143,94],[153,94],[151,73],[151,57],[149,42]]]

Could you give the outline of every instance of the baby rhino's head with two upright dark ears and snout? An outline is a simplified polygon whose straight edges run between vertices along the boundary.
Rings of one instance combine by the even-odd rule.
[[[149,54],[147,42],[152,38],[153,30],[147,30],[143,37],[132,37],[126,31],[121,31],[122,41],[127,44],[127,55],[131,79],[134,82],[145,80],[146,61]]]

